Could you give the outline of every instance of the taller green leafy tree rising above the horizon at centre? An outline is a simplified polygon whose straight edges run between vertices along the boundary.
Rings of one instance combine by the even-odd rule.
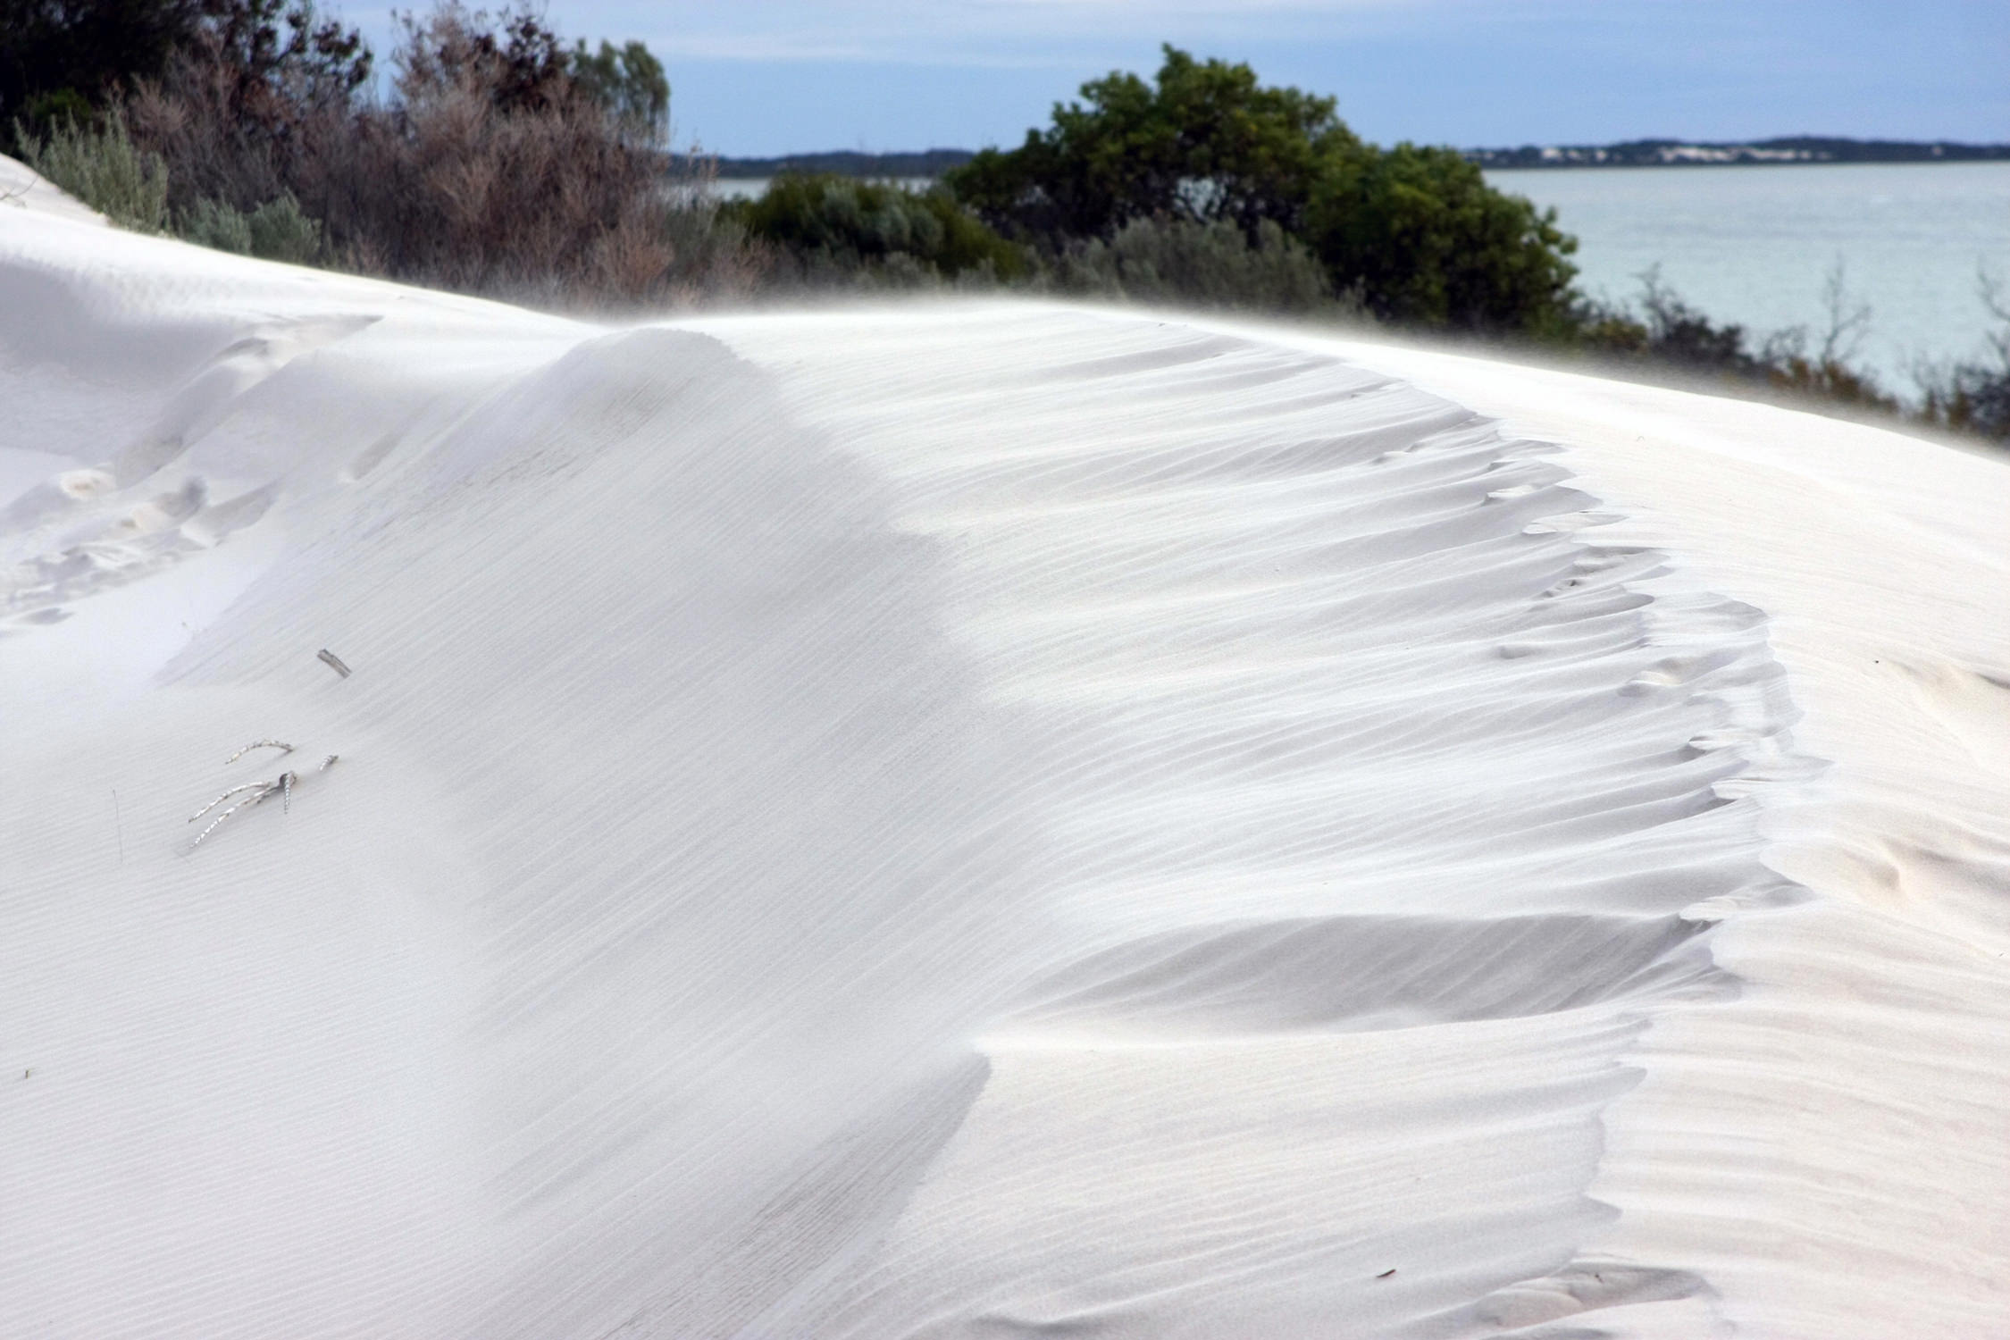
[[[1361,151],[1335,100],[1266,88],[1246,64],[1166,46],[1156,82],[1112,72],[1053,127],[987,149],[949,187],[989,223],[1041,239],[1114,237],[1132,219],[1296,231],[1315,183]]]

